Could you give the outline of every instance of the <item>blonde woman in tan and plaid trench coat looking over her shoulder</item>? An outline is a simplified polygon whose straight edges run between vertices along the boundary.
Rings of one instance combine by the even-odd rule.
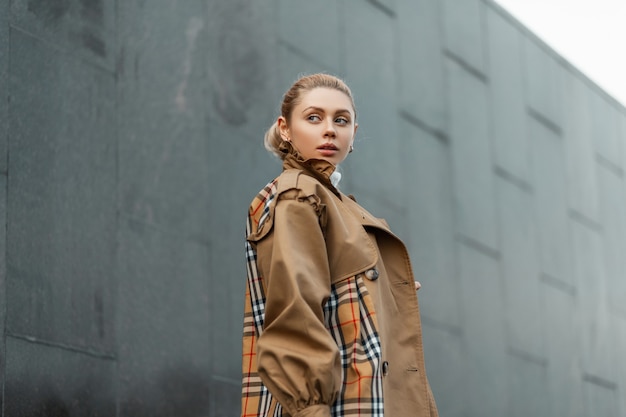
[[[337,188],[356,131],[350,89],[314,74],[265,135],[283,172],[249,209],[242,417],[437,416],[407,250]]]

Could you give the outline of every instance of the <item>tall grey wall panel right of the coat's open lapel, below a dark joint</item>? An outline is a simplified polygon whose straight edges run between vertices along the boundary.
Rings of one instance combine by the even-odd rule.
[[[423,285],[422,316],[459,326],[458,274],[449,147],[402,120],[407,224],[413,272]]]

